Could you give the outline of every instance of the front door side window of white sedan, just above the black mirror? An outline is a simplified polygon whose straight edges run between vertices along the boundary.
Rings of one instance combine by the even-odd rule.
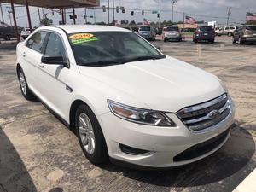
[[[66,52],[61,38],[54,32],[51,32],[45,49],[45,55],[65,57],[65,53]]]

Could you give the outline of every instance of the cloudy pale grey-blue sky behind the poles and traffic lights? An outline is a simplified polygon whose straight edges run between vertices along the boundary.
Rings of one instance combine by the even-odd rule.
[[[137,22],[142,22],[143,18],[147,18],[148,20],[157,21],[158,18],[156,15],[153,15],[150,11],[146,11],[145,15],[141,14],[141,11],[137,11],[135,9],[155,9],[159,10],[159,1],[160,0],[115,0],[116,6],[124,6],[127,8],[126,14],[116,14],[117,20],[136,20]],[[110,0],[112,3],[112,0]],[[106,5],[106,0],[101,0],[101,6]],[[8,6],[9,4],[3,3],[3,14],[4,19],[7,23],[9,23],[9,14],[8,14]],[[161,9],[162,11],[162,20],[172,20],[172,4],[171,0],[161,0]],[[226,22],[228,7],[232,7],[231,9],[231,19],[230,22],[240,23],[245,20],[246,12],[256,12],[256,0],[179,0],[174,8],[174,20],[183,20],[183,12],[186,15],[193,16],[196,20],[217,20],[219,24],[224,24]],[[26,20],[26,9],[17,7],[16,9],[16,17],[19,26],[28,26]],[[135,10],[135,15],[131,16],[131,10]],[[35,7],[30,8],[32,15],[32,26],[38,26],[38,9]],[[40,9],[40,11],[42,11]],[[68,11],[72,11],[71,9],[67,9]],[[44,9],[44,13],[50,12],[48,9]],[[80,24],[84,24],[84,9],[76,9],[77,15],[79,16],[77,22]],[[42,13],[41,13],[42,14]],[[68,14],[67,14],[68,15]],[[93,15],[93,10],[88,10],[88,15]],[[52,16],[48,15],[49,18],[54,20],[54,24],[57,25],[58,21],[61,20],[61,15],[55,14]],[[110,14],[111,19],[113,20],[112,12]],[[218,18],[216,18],[218,17]],[[1,18],[1,17],[0,17]],[[88,19],[90,22],[93,22],[94,19]],[[102,9],[96,9],[96,21],[105,21],[107,22],[107,13],[103,13]],[[73,20],[69,20],[67,16],[67,22],[72,24]]]

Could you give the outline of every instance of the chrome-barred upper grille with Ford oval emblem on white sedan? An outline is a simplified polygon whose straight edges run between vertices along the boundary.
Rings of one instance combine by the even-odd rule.
[[[209,102],[204,102],[189,108],[184,108],[177,113],[177,117],[183,121],[191,131],[202,131],[214,125],[218,125],[231,113],[230,101],[224,94]]]

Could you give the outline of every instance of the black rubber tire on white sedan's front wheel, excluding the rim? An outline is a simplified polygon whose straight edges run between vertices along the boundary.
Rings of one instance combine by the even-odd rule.
[[[94,135],[94,151],[91,154],[84,147],[82,138],[80,136],[80,131],[79,131],[79,118],[80,118],[80,115],[84,115],[84,114],[88,117],[88,119],[90,119],[90,125],[92,127],[92,131],[93,131],[93,135]],[[90,162],[94,165],[101,165],[103,163],[108,162],[108,160],[109,160],[108,148],[107,148],[107,144],[105,142],[105,138],[102,133],[102,128],[101,128],[98,120],[96,119],[95,114],[85,104],[80,105],[76,111],[75,129],[76,129],[76,135],[79,138],[80,146],[81,146],[86,158],[88,160],[90,160]],[[87,133],[85,133],[85,135],[86,134]],[[90,143],[89,140],[90,139],[87,140],[87,143]]]

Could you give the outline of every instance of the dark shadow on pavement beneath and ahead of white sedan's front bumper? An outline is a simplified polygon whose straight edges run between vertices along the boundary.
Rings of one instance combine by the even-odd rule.
[[[256,127],[254,128],[256,130]],[[236,133],[240,136],[236,136]],[[188,166],[173,168],[165,172],[135,171],[111,164],[102,168],[110,172],[122,172],[125,177],[157,186],[232,191],[255,168],[256,163],[252,160],[254,153],[255,143],[252,135],[236,125],[223,148],[206,159]],[[247,166],[250,160],[253,161],[253,166]]]

